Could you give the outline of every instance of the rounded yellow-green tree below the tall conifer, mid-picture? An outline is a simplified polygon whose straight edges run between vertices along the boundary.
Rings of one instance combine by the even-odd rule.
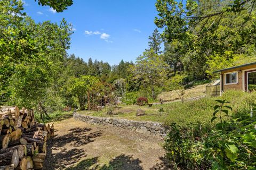
[[[135,65],[131,66],[134,78],[142,80],[143,86],[150,89],[153,99],[157,97],[155,88],[163,86],[168,70],[169,66],[153,49],[144,52],[137,58]]]

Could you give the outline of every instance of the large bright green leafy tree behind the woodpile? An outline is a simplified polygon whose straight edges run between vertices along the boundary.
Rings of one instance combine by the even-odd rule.
[[[53,82],[69,48],[70,25],[65,20],[36,24],[21,13],[20,1],[0,4],[0,91],[6,94],[0,103],[35,108],[47,116],[53,111],[47,109],[51,101],[60,101]],[[62,101],[53,105],[62,106]]]

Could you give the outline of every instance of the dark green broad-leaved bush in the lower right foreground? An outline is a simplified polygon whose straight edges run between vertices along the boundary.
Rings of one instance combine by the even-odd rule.
[[[226,119],[233,109],[226,100],[216,101],[211,121],[215,124],[171,124],[164,144],[167,159],[187,169],[255,169],[255,113]]]

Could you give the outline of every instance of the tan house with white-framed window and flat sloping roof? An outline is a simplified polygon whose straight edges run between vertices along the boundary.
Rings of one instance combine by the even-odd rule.
[[[256,90],[256,62],[215,71],[220,74],[220,91]]]

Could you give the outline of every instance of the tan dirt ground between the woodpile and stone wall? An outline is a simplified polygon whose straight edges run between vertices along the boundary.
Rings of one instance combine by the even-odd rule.
[[[54,128],[44,169],[167,169],[159,137],[73,118],[54,123]]]

